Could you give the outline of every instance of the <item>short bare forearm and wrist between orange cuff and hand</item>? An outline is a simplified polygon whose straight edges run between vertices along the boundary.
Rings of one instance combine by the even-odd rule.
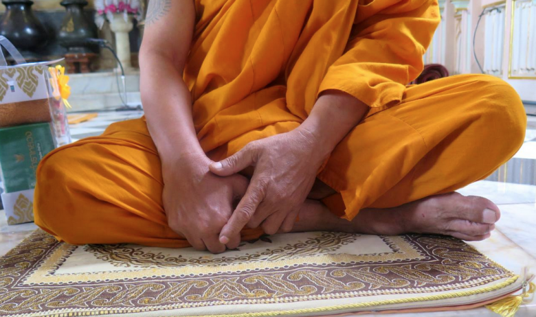
[[[311,114],[300,126],[321,145],[322,154],[330,154],[368,111],[359,99],[342,91],[326,91],[315,103]]]

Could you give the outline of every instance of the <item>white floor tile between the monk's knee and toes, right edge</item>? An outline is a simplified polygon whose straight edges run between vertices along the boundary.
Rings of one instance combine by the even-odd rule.
[[[536,186],[480,180],[458,190],[465,196],[481,196],[495,204],[536,202]]]

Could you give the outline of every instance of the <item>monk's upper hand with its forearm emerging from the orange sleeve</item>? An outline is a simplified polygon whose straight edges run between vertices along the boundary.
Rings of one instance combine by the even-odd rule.
[[[226,244],[246,225],[265,233],[289,232],[316,174],[335,146],[355,127],[368,106],[342,91],[326,91],[295,130],[248,143],[210,170],[230,176],[249,166],[255,171],[247,191],[223,226]]]

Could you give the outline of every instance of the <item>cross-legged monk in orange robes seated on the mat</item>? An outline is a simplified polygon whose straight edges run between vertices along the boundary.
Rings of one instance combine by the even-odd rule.
[[[298,231],[490,236],[456,189],[517,152],[520,97],[489,75],[407,86],[435,0],[151,0],[145,115],[54,150],[35,221],[70,244],[222,253]]]

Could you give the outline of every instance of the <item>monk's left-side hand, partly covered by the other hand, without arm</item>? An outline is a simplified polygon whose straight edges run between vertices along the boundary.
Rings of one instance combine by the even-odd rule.
[[[222,253],[225,244],[219,241],[219,234],[232,214],[234,202],[244,195],[248,180],[238,174],[216,176],[208,169],[210,163],[206,156],[196,156],[163,165],[162,200],[173,231],[186,237],[197,250]],[[228,237],[227,247],[240,244],[240,232]]]

